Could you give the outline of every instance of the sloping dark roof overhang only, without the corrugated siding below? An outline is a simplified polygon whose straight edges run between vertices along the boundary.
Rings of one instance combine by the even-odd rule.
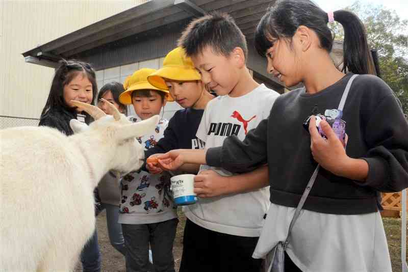
[[[214,10],[233,16],[249,40],[260,18],[274,2],[275,0],[151,0],[47,42],[22,55],[56,62],[61,57],[77,56],[100,45],[137,36],[139,33]]]

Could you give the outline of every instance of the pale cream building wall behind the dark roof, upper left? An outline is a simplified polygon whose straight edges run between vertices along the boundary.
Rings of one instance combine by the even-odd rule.
[[[145,2],[0,1],[0,116],[39,118],[45,105],[54,69],[25,63],[22,52]]]

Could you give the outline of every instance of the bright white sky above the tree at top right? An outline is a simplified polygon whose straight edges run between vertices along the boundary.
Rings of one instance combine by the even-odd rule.
[[[336,11],[351,6],[356,0],[313,1],[324,11]],[[395,10],[401,19],[408,19],[408,0],[359,0],[359,2],[373,6],[384,6],[387,9]]]

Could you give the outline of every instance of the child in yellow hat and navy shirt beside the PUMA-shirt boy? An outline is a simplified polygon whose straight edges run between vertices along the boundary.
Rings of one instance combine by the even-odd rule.
[[[146,158],[172,149],[200,149],[204,147],[195,136],[204,108],[214,98],[201,82],[201,76],[193,62],[186,56],[185,50],[176,47],[167,53],[163,67],[147,76],[149,83],[159,89],[168,90],[175,102],[184,110],[177,111],[170,119],[169,125],[155,148],[146,151]],[[155,163],[146,165],[150,173],[161,173],[162,169]],[[196,174],[198,166],[186,167],[185,172]]]

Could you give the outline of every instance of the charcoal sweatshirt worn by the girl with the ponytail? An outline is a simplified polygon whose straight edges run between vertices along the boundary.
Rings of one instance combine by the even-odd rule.
[[[304,88],[281,95],[268,119],[246,135],[243,142],[227,138],[222,147],[207,151],[207,163],[231,172],[251,171],[269,165],[270,201],[296,207],[317,163],[310,150],[310,134],[302,122],[312,114],[337,108],[352,74],[332,86],[307,94]],[[359,75],[348,94],[343,120],[346,153],[365,159],[365,182],[336,176],[322,168],[303,208],[333,214],[377,211],[380,192],[408,187],[408,123],[397,99],[380,78]]]

